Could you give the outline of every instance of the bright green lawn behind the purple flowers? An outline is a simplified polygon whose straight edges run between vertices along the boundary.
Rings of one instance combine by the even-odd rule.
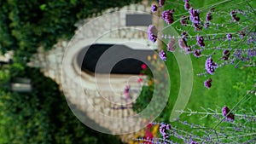
[[[210,9],[214,8],[211,11],[212,20],[210,20],[210,26],[205,29],[205,27],[201,28],[201,31],[195,31],[194,26],[191,24],[189,20],[188,26],[182,26],[180,23],[180,18],[182,15],[189,17],[189,11],[184,9],[183,1],[166,1],[164,7],[158,9],[160,11],[164,11],[167,9],[175,9],[173,12],[174,22],[171,25],[165,23],[165,27],[163,30],[159,30],[164,34],[171,34],[174,37],[180,37],[182,32],[187,32],[188,39],[187,44],[191,46],[192,53],[190,53],[190,60],[193,65],[193,84],[192,92],[189,98],[189,102],[186,105],[185,111],[193,112],[202,112],[201,114],[191,114],[183,113],[180,116],[180,120],[170,122],[170,115],[173,110],[173,107],[177,101],[177,95],[179,90],[183,91],[183,88],[180,88],[182,83],[189,83],[186,81],[181,81],[181,74],[184,72],[181,71],[182,65],[186,65],[182,60],[177,59],[177,53],[179,52],[169,52],[167,50],[166,44],[169,43],[168,38],[163,38],[162,41],[164,47],[160,48],[166,52],[166,67],[169,72],[170,80],[171,80],[171,89],[169,95],[168,105],[166,109],[160,114],[160,118],[157,118],[156,121],[166,122],[175,127],[177,126],[178,130],[187,130],[188,132],[195,132],[196,129],[191,129],[191,125],[189,124],[200,124],[204,126],[203,129],[210,130],[213,128],[214,130],[222,130],[226,128],[228,135],[232,134],[237,137],[241,137],[241,133],[236,130],[227,130],[230,127],[237,124],[244,127],[249,127],[252,130],[248,130],[244,135],[253,135],[255,136],[255,119],[254,121],[247,121],[240,117],[241,115],[251,115],[255,118],[255,110],[256,110],[256,97],[255,97],[255,82],[256,82],[256,68],[255,68],[255,55],[251,57],[248,61],[235,60],[232,63],[234,57],[236,57],[236,49],[254,49],[255,48],[255,39],[253,43],[247,43],[250,37],[239,37],[239,32],[246,30],[248,33],[255,33],[255,8],[256,3],[253,1],[216,1],[216,0],[207,0],[207,1],[189,1],[189,4],[192,5],[193,9],[199,9],[200,18],[203,23],[206,21],[207,12]],[[251,9],[248,10],[248,9]],[[231,19],[232,14],[230,12],[232,10],[238,11],[237,15],[240,17],[239,21],[235,21]],[[172,13],[172,12],[171,12]],[[161,12],[160,12],[161,14]],[[160,15],[161,16],[161,15]],[[234,15],[233,15],[234,16]],[[254,24],[254,25],[253,25]],[[176,32],[174,31],[176,30]],[[233,35],[232,40],[226,40],[227,34],[231,33]],[[248,34],[249,35],[249,34]],[[201,48],[198,43],[196,43],[196,37],[202,36],[204,37],[205,47]],[[210,38],[208,38],[210,37]],[[159,38],[159,37],[158,37]],[[234,39],[236,38],[236,39]],[[159,38],[160,39],[160,38]],[[214,39],[214,40],[213,40]],[[160,40],[159,40],[160,41]],[[158,42],[159,42],[158,41]],[[177,41],[176,41],[177,42]],[[176,44],[178,47],[178,42]],[[221,48],[221,49],[217,49]],[[193,50],[198,49],[201,50],[201,57],[197,58],[193,55]],[[230,49],[230,56],[228,61],[228,65],[224,65],[224,61],[222,58],[224,49]],[[182,53],[184,53],[183,50]],[[255,49],[254,49],[255,51]],[[188,51],[186,51],[188,52]],[[189,52],[188,52],[189,53]],[[184,54],[183,54],[184,55]],[[206,73],[198,76],[200,73],[206,72],[205,63],[207,58],[212,56],[212,60],[218,64],[218,68],[215,69],[213,75]],[[181,63],[180,63],[181,62]],[[253,63],[253,66],[246,66],[247,62],[250,64]],[[204,82],[208,79],[212,78],[212,86],[207,89],[204,86]],[[249,90],[253,89],[253,94],[247,95]],[[183,105],[183,103],[181,104]],[[233,123],[223,122],[221,118],[215,118],[214,115],[207,115],[206,113],[211,112],[213,110],[214,113],[222,113],[222,107],[230,107],[232,112],[235,113],[235,120]],[[215,112],[216,110],[216,112]],[[204,113],[205,112],[205,113]],[[213,117],[214,116],[214,117]],[[204,118],[203,118],[204,117]],[[186,123],[183,123],[183,122]],[[221,121],[221,122],[220,122]],[[181,123],[182,122],[182,123]],[[187,124],[189,123],[189,124]],[[233,125],[232,125],[233,124]],[[234,128],[235,129],[235,128]],[[205,130],[199,130],[197,135],[210,135]],[[172,130],[171,130],[172,131]],[[237,133],[236,133],[237,132]],[[161,132],[160,132],[161,133]],[[182,139],[177,138],[178,136],[174,134],[172,131],[172,135],[174,138],[170,138],[169,140],[177,140]],[[191,134],[190,133],[190,134]],[[185,133],[184,133],[185,134]],[[176,135],[176,138],[175,138]],[[182,136],[181,136],[182,137]],[[226,137],[229,140],[228,136]],[[231,139],[231,138],[230,138]],[[248,141],[251,140],[252,136],[244,136],[241,140],[234,139],[232,142],[237,141]],[[179,140],[181,142],[181,140]],[[191,138],[190,138],[191,141]],[[169,141],[170,142],[170,141]],[[184,142],[184,141],[183,141]],[[188,141],[189,142],[189,141]],[[230,142],[224,140],[224,142]],[[231,143],[232,143],[231,142]],[[252,142],[252,141],[251,141]],[[171,142],[170,142],[171,143]]]

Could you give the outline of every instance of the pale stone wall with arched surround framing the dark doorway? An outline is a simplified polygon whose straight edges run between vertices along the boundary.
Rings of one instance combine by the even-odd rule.
[[[135,9],[136,7],[136,9]],[[128,11],[127,11],[128,10]],[[131,10],[131,11],[129,11]],[[135,12],[134,10],[137,10],[137,12]],[[143,12],[139,12],[138,10],[144,11],[144,12],[148,12],[150,11],[150,5],[148,5],[148,3],[146,4],[137,4],[137,5],[131,5],[131,6],[127,6],[123,9],[120,9],[120,12],[117,13],[111,13],[111,14],[107,14],[107,15],[103,15],[102,19],[97,19],[94,20],[94,24],[92,24],[92,26],[89,29],[84,28],[83,26],[79,27],[78,31],[76,32],[77,35],[75,37],[73,37],[73,43],[77,43],[76,45],[74,45],[74,48],[70,51],[67,51],[67,47],[68,47],[68,42],[66,41],[61,41],[59,43],[56,43],[54,46],[54,49],[44,52],[43,49],[38,49],[38,55],[34,55],[34,58],[32,60],[31,63],[29,63],[30,66],[37,66],[41,68],[41,71],[44,72],[44,75],[52,78],[55,80],[55,82],[57,84],[60,84],[60,89],[63,90],[64,92],[66,92],[67,95],[67,99],[69,101],[71,101],[73,104],[75,104],[76,106],[80,107],[80,109],[84,112],[87,113],[88,117],[91,119],[94,119],[96,121],[97,124],[109,129],[110,131],[113,131],[113,133],[117,133],[119,131],[130,131],[127,130],[128,128],[124,129],[116,129],[114,127],[112,127],[112,125],[108,125],[108,123],[105,123],[103,119],[101,118],[97,118],[97,115],[94,114],[92,112],[92,109],[90,108],[85,108],[82,107],[84,106],[84,101],[86,101],[85,99],[79,99],[76,96],[73,95],[89,95],[89,98],[91,97],[91,103],[93,105],[98,105],[100,104],[100,107],[97,107],[98,109],[100,109],[103,113],[108,113],[110,116],[115,115],[118,117],[125,117],[128,115],[133,115],[135,114],[134,112],[132,112],[131,109],[125,109],[124,107],[120,107],[119,109],[111,109],[111,107],[116,107],[116,105],[113,105],[113,103],[108,103],[108,102],[103,102],[102,103],[102,98],[97,97],[96,95],[99,95],[96,90],[92,89],[92,88],[96,88],[94,87],[93,84],[91,83],[87,83],[86,86],[88,86],[91,89],[84,89],[84,91],[79,91],[77,90],[78,85],[80,84],[80,75],[82,75],[83,78],[87,78],[87,79],[93,79],[90,74],[88,75],[88,73],[79,73],[79,67],[75,65],[75,55],[77,55],[77,53],[79,52],[79,49],[83,48],[86,45],[90,45],[92,41],[94,41],[95,43],[124,43],[125,42],[129,42],[129,41],[135,41],[137,43],[145,43],[146,45],[148,45],[149,47],[153,47],[152,43],[148,41],[148,36],[147,36],[147,29],[148,26],[125,26],[125,15],[126,14],[142,14]],[[86,20],[86,21],[90,21]],[[107,24],[104,25],[103,27],[100,26],[102,24]],[[96,31],[95,31],[95,27],[97,27]],[[105,30],[109,30],[112,31],[110,33],[105,33]],[[116,31],[115,31],[116,30]],[[100,41],[95,41],[96,37],[100,37],[102,35],[102,33],[104,35],[104,37],[100,38]],[[120,38],[122,40],[117,40],[117,38]],[[63,59],[67,58],[67,63],[69,64],[69,66],[67,66],[67,71],[62,71],[62,63],[63,63]],[[79,74],[78,74],[79,73]],[[67,83],[67,89],[63,88],[61,85],[61,74],[64,75],[64,79],[62,79],[62,81],[64,81],[64,83]],[[122,95],[122,92],[125,88],[125,81],[122,81],[122,78],[125,77],[131,77],[131,75],[123,75],[121,76],[122,78],[118,78],[118,76],[116,76],[116,81],[119,81],[119,83],[117,83],[116,88],[119,88],[117,90],[119,90],[119,95]],[[63,77],[62,77],[63,78]],[[121,83],[122,81],[122,83]],[[132,82],[133,84],[137,84],[137,81],[134,79],[134,82]],[[132,84],[131,83],[131,84]],[[123,85],[122,85],[123,84]],[[105,94],[106,91],[104,92]],[[115,99],[117,96],[113,96],[113,94],[108,94],[105,95],[105,97],[108,97],[109,100],[112,101],[119,101],[119,98],[117,98],[118,100],[113,100]],[[138,122],[138,123],[142,123],[142,122]],[[119,125],[116,125],[116,127],[119,127]],[[114,132],[115,131],[115,132]],[[129,141],[131,140],[132,137],[129,137],[127,135],[125,135],[123,137],[124,141]]]

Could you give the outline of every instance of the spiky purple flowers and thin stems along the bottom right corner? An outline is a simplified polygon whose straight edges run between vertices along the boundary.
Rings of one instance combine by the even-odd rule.
[[[223,117],[221,117],[221,115],[223,115],[226,117],[225,121],[230,123],[230,126],[219,126],[219,128],[212,129],[204,124],[189,124],[189,122],[177,118],[172,122],[172,126],[171,124],[165,123],[153,123],[155,126],[159,126],[160,137],[154,136],[153,139],[150,139],[150,136],[152,137],[152,135],[148,135],[147,138],[137,139],[137,141],[152,144],[173,144],[178,142],[187,144],[255,143],[255,135],[250,135],[255,133],[255,128],[253,126],[256,122],[256,116],[254,116],[253,113],[236,113],[235,121],[235,114],[231,113],[228,107],[223,107],[221,113],[219,113],[218,110],[213,110],[211,108],[202,107],[202,109],[204,110],[203,112],[192,111],[191,109],[188,111],[177,110],[176,112],[186,114],[190,117],[192,115],[201,116],[201,118],[207,119],[212,117],[216,120],[216,123],[223,119]],[[241,139],[233,139],[235,136],[241,137]]]

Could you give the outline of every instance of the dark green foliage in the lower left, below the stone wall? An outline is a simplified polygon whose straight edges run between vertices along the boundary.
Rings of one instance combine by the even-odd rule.
[[[14,71],[18,70],[11,68]],[[30,78],[33,90],[16,93],[1,87],[0,143],[120,143],[113,135],[84,126],[58,85],[38,69],[23,67],[12,77]]]

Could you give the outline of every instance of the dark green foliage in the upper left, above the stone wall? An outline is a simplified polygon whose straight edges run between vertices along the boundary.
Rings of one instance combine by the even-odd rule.
[[[39,46],[50,49],[57,40],[73,37],[78,20],[138,2],[140,0],[1,1],[0,49],[3,52],[19,49],[21,57],[30,57]]]

